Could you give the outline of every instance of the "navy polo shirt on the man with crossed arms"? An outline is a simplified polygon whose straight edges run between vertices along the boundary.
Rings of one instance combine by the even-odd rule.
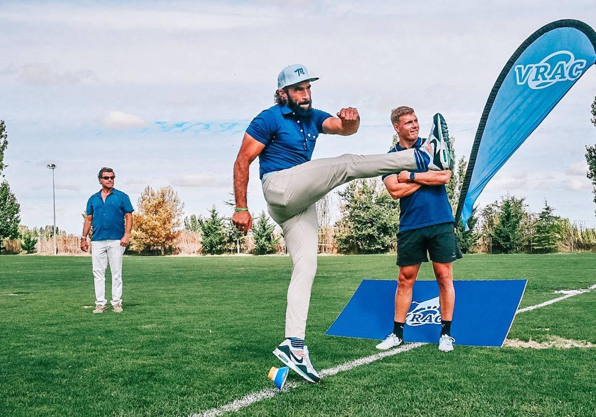
[[[415,148],[426,139],[418,138]],[[399,143],[389,153],[406,150]],[[389,175],[384,175],[385,179]],[[440,223],[455,222],[445,185],[423,185],[406,197],[399,199],[399,231],[420,229]]]

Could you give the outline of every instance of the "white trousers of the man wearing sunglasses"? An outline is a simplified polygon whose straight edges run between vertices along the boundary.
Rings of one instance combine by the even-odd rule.
[[[111,305],[122,303],[122,256],[126,250],[118,240],[97,240],[91,242],[91,260],[95,281],[95,305],[105,306],[105,269],[110,263],[112,275]]]

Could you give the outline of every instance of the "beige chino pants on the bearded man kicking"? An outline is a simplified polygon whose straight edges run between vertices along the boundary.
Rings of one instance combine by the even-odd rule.
[[[318,220],[315,203],[336,186],[356,178],[415,170],[414,150],[380,155],[341,155],[309,161],[269,175],[263,183],[267,209],[284,232],[292,260],[285,310],[285,337],[305,337],[316,273]]]

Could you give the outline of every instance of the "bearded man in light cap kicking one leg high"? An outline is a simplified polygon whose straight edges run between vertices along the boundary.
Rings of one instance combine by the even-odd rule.
[[[305,66],[291,65],[277,78],[275,105],[250,122],[234,163],[236,208],[232,222],[246,234],[252,228],[246,189],[249,166],[259,157],[259,174],[267,209],[284,233],[293,268],[285,312],[286,339],[274,350],[285,365],[310,382],[319,375],[305,345],[306,316],[316,273],[318,221],[315,203],[338,185],[356,178],[412,170],[448,168],[440,160],[444,144],[436,142],[400,153],[342,155],[311,161],[321,133],[352,135],[360,124],[358,110],[342,108],[337,117],[312,108],[311,77]],[[431,214],[432,215],[432,214]]]

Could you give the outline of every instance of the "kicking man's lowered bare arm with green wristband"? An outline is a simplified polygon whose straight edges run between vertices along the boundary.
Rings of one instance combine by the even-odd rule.
[[[265,145],[248,133],[244,133],[242,145],[234,163],[234,197],[237,208],[248,207],[246,189],[249,185],[249,167],[263,148],[265,148]],[[232,216],[232,223],[246,235],[253,226],[253,219],[249,211],[235,211],[234,216]]]

